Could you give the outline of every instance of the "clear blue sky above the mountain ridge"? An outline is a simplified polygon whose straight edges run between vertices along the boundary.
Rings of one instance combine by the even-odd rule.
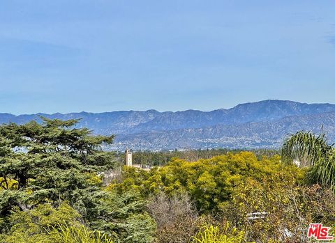
[[[334,13],[334,0],[0,0],[0,112],[335,103]]]

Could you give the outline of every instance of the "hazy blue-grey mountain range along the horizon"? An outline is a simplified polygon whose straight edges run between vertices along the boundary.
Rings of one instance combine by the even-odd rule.
[[[81,119],[77,127],[94,134],[116,134],[110,149],[278,148],[299,130],[327,132],[335,141],[335,104],[263,100],[214,111],[112,111],[105,113],[0,113],[0,123],[40,122],[40,116]]]

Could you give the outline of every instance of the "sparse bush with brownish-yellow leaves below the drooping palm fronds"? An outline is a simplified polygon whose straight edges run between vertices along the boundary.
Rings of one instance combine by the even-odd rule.
[[[294,180],[248,180],[232,194],[222,216],[256,242],[307,242],[308,225],[335,224],[334,194],[318,185],[306,187]],[[248,213],[266,212],[264,218]]]

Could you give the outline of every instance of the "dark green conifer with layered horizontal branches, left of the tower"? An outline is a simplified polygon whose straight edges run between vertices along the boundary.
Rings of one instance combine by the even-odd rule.
[[[79,120],[32,121],[0,126],[0,214],[13,207],[67,201],[84,217],[95,214],[102,194],[99,173],[114,167],[102,146],[114,136],[75,128]]]

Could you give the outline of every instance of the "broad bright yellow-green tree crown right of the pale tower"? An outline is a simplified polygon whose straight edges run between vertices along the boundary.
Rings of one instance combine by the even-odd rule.
[[[174,159],[148,172],[124,168],[123,181],[112,183],[110,188],[138,191],[143,198],[161,191],[169,196],[187,192],[200,212],[216,212],[221,203],[231,199],[234,188],[248,178],[261,182],[271,175],[280,175],[278,180],[303,177],[299,168],[284,166],[278,156],[258,160],[252,152],[239,152],[197,162]]]

